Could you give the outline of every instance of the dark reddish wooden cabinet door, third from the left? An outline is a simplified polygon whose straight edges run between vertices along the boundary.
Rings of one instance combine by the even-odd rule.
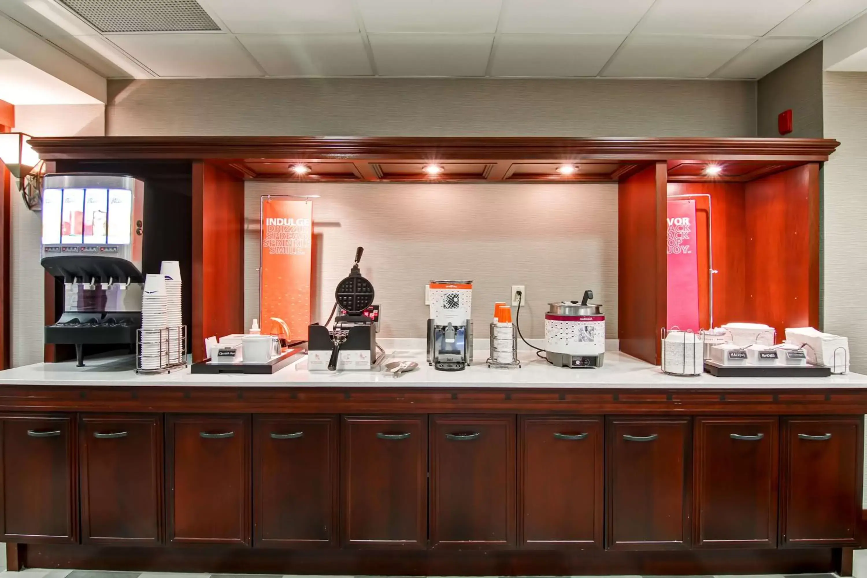
[[[166,417],[170,542],[250,544],[250,416]]]

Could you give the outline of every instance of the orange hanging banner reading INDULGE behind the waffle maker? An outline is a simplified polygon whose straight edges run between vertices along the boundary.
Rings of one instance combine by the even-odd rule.
[[[310,325],[313,204],[289,197],[262,198],[260,213],[259,326],[279,334],[282,319],[290,341],[307,341]]]

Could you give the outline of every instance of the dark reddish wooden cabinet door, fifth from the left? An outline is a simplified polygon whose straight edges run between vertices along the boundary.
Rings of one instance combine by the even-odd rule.
[[[427,416],[344,417],[342,543],[427,545]]]

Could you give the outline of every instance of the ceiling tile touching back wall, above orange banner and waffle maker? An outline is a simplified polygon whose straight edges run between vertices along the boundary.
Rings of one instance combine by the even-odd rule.
[[[271,76],[373,75],[360,34],[241,34],[238,40]]]

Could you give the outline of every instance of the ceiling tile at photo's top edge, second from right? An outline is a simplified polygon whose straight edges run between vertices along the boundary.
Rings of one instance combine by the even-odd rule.
[[[762,36],[807,0],[656,0],[636,32]]]

